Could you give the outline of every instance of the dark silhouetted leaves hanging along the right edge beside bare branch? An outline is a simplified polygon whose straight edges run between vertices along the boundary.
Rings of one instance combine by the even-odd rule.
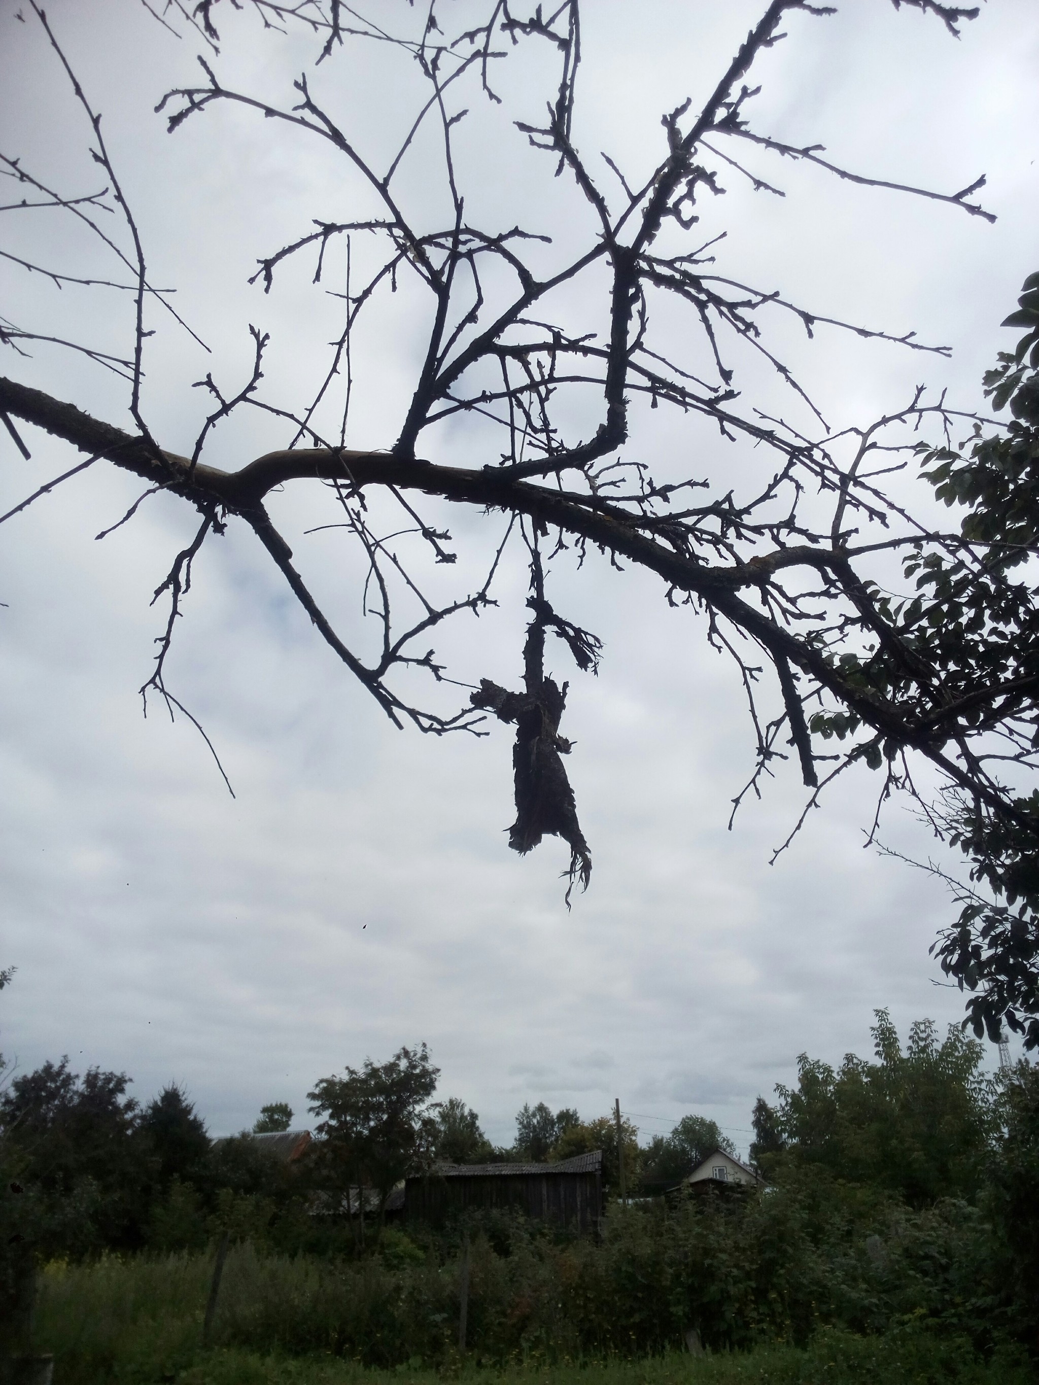
[[[963,544],[952,553],[921,543],[905,561],[917,596],[902,611],[912,645],[942,679],[946,697],[966,699],[978,729],[999,729],[1003,755],[1032,767],[1039,727],[1029,694],[1039,686],[1039,611],[1029,560],[1039,548],[1039,273],[1029,274],[1004,327],[1025,328],[985,375],[997,434],[974,424],[970,452],[921,445],[924,476],[946,506],[966,508]],[[984,555],[973,544],[985,546]],[[1022,572],[1021,568],[1029,564]],[[1014,571],[1017,569],[1017,571]],[[978,680],[1000,687],[1000,716],[977,698]],[[999,722],[1003,726],[999,726]],[[1009,752],[1009,753],[1007,753]],[[1011,784],[1013,789],[1013,784]],[[970,861],[971,881],[991,897],[956,889],[957,924],[935,945],[943,970],[973,994],[974,1032],[999,1039],[1003,1024],[1039,1046],[1039,791],[991,795],[959,785],[932,820]],[[1029,1018],[1031,1017],[1031,1018]]]

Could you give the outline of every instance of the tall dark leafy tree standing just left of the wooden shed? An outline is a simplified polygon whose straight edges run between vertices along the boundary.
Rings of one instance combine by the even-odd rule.
[[[317,1126],[317,1158],[331,1184],[345,1191],[370,1186],[380,1223],[393,1186],[431,1158],[436,1120],[429,1108],[441,1069],[425,1044],[400,1048],[389,1062],[364,1060],[341,1078],[321,1078],[308,1093]]]

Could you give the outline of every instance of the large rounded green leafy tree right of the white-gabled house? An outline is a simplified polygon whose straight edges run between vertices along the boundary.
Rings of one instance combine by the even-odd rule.
[[[834,1069],[801,1054],[797,1087],[776,1087],[770,1125],[788,1144],[780,1158],[888,1188],[913,1206],[975,1197],[996,1127],[981,1044],[954,1025],[939,1043],[920,1019],[903,1051],[885,1010],[871,1033],[876,1062],[848,1054]]]

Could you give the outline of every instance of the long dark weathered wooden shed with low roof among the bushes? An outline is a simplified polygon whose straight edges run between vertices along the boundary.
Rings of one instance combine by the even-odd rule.
[[[405,1186],[405,1219],[442,1226],[471,1208],[515,1208],[539,1222],[596,1231],[603,1215],[603,1151],[558,1163],[439,1163]]]

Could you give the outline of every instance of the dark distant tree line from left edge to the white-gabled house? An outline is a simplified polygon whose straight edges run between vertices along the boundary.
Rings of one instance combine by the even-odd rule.
[[[604,1181],[616,1190],[612,1116],[582,1120],[574,1109],[525,1104],[513,1144],[495,1145],[464,1101],[435,1100],[438,1079],[425,1044],[321,1078],[309,1093],[314,1138],[288,1163],[254,1138],[290,1130],[295,1112],[283,1101],[262,1107],[251,1132],[215,1140],[176,1083],[141,1104],[125,1072],[79,1075],[66,1057],[11,1073],[0,1091],[6,1241],[43,1258],[80,1259],[201,1248],[230,1230],[299,1249],[349,1251],[364,1240],[366,1213],[378,1234],[387,1198],[411,1173],[593,1150],[603,1151]],[[677,1183],[713,1148],[734,1152],[716,1123],[697,1115],[647,1147],[623,1120],[622,1143],[633,1190],[643,1180]]]

